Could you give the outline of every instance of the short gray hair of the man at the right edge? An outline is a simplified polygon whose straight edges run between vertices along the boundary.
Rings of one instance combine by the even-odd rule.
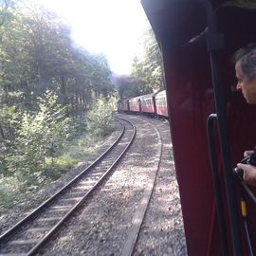
[[[239,62],[243,74],[251,80],[256,75],[256,44],[238,49],[233,56],[233,62]]]

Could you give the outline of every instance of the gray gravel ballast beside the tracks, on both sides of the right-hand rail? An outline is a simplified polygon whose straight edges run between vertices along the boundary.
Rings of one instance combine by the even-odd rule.
[[[133,222],[137,206],[149,182],[149,172],[155,169],[155,155],[162,136],[163,154],[156,175],[153,196],[146,211],[137,239],[134,255],[187,255],[179,193],[174,173],[174,160],[169,124],[159,119],[118,115],[137,126],[137,137],[116,170],[103,182],[89,201],[69,219],[64,229],[40,251],[42,255],[120,255]],[[119,133],[116,132],[116,133]],[[114,133],[115,134],[115,133]],[[108,143],[115,137],[108,138]],[[107,144],[107,143],[106,143]],[[106,145],[105,144],[105,145]],[[68,180],[72,170],[49,186],[44,192],[54,191]],[[56,185],[58,184],[58,186]],[[17,206],[2,216],[0,225],[11,225],[10,215],[19,219],[18,212],[32,209],[41,198],[40,192],[32,203]],[[44,195],[46,196],[46,195]],[[43,196],[43,197],[44,197]],[[2,226],[2,225],[1,225]]]

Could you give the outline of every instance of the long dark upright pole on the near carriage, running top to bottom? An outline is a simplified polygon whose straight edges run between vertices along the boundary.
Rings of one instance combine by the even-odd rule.
[[[219,139],[222,153],[222,162],[224,168],[224,181],[227,195],[227,206],[229,212],[229,224],[232,239],[232,248],[235,256],[243,255],[242,241],[239,227],[239,217],[237,200],[235,194],[234,181],[231,172],[231,159],[229,152],[229,136],[226,117],[226,101],[222,86],[222,76],[220,72],[219,54],[224,48],[223,35],[218,33],[215,16],[209,0],[199,0],[202,3],[206,13],[208,26],[208,50],[210,54],[210,68],[212,77],[212,86],[214,91],[214,100],[216,113],[218,117]]]

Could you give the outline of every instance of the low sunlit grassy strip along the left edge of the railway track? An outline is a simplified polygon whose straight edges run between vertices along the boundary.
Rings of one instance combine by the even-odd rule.
[[[66,143],[63,153],[53,162],[50,158],[46,159],[46,168],[42,171],[29,176],[24,174],[16,174],[13,177],[0,176],[0,214],[32,197],[35,192],[76,167],[86,157],[96,155],[103,140],[103,137],[92,135],[76,137]]]

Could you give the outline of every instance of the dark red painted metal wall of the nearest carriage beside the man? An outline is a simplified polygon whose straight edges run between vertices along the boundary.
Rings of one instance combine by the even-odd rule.
[[[201,39],[187,44],[205,29],[206,21],[205,14],[200,12],[202,9],[196,7],[196,1],[192,1],[192,5],[189,5],[189,2],[142,1],[163,52],[174,162],[188,252],[192,256],[219,256],[222,253],[214,207],[206,127],[208,116],[215,112],[210,58],[204,37],[201,36]],[[218,1],[218,4],[221,2],[224,1]],[[171,9],[172,3],[174,5]],[[217,4],[217,1],[212,3]],[[229,147],[235,166],[243,157],[244,150],[251,149],[256,144],[256,107],[248,106],[242,95],[233,91],[231,85],[235,79],[230,57],[237,48],[256,42],[256,13],[255,10],[232,7],[220,8],[216,15],[220,30],[226,39],[226,48],[221,55],[221,71],[227,101]],[[215,128],[217,131],[217,127]],[[217,138],[217,133],[215,136]],[[216,143],[219,143],[218,139]],[[220,155],[220,149],[217,147],[217,161],[225,201]],[[249,202],[249,229],[256,247],[255,214],[256,207]],[[227,208],[225,215],[229,223]],[[226,228],[229,251],[232,255],[229,224]],[[244,241],[243,229],[241,236]],[[245,255],[248,255],[245,241],[243,247]]]

